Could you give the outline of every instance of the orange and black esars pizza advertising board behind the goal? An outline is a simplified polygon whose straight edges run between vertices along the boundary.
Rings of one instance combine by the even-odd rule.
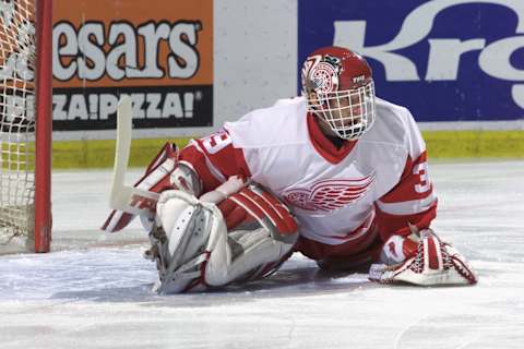
[[[55,0],[55,130],[212,125],[213,1]]]

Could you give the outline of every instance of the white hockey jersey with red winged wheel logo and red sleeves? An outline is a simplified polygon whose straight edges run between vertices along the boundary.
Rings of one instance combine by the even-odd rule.
[[[188,147],[205,160],[205,169],[196,166],[204,182],[223,182],[235,172],[226,163],[236,164],[289,205],[302,237],[323,244],[361,239],[378,215],[391,233],[434,217],[424,217],[436,197],[425,143],[406,108],[378,98],[373,127],[338,157],[313,142],[307,118],[303,97],[283,99]]]

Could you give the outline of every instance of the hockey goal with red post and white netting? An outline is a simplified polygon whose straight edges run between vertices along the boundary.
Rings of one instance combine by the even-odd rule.
[[[50,5],[0,0],[0,252],[49,251]]]

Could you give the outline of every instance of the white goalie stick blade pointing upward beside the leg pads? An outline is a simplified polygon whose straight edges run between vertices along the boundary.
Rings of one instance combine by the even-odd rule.
[[[124,96],[120,99],[117,110],[117,146],[109,206],[129,214],[152,218],[154,216],[152,207],[158,201],[159,194],[124,184],[131,149],[131,98]]]

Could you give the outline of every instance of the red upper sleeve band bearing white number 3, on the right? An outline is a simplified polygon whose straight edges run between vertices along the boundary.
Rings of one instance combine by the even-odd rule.
[[[389,204],[428,197],[432,193],[433,186],[429,179],[427,164],[426,152],[420,154],[415,161],[407,157],[401,180],[380,201]]]

